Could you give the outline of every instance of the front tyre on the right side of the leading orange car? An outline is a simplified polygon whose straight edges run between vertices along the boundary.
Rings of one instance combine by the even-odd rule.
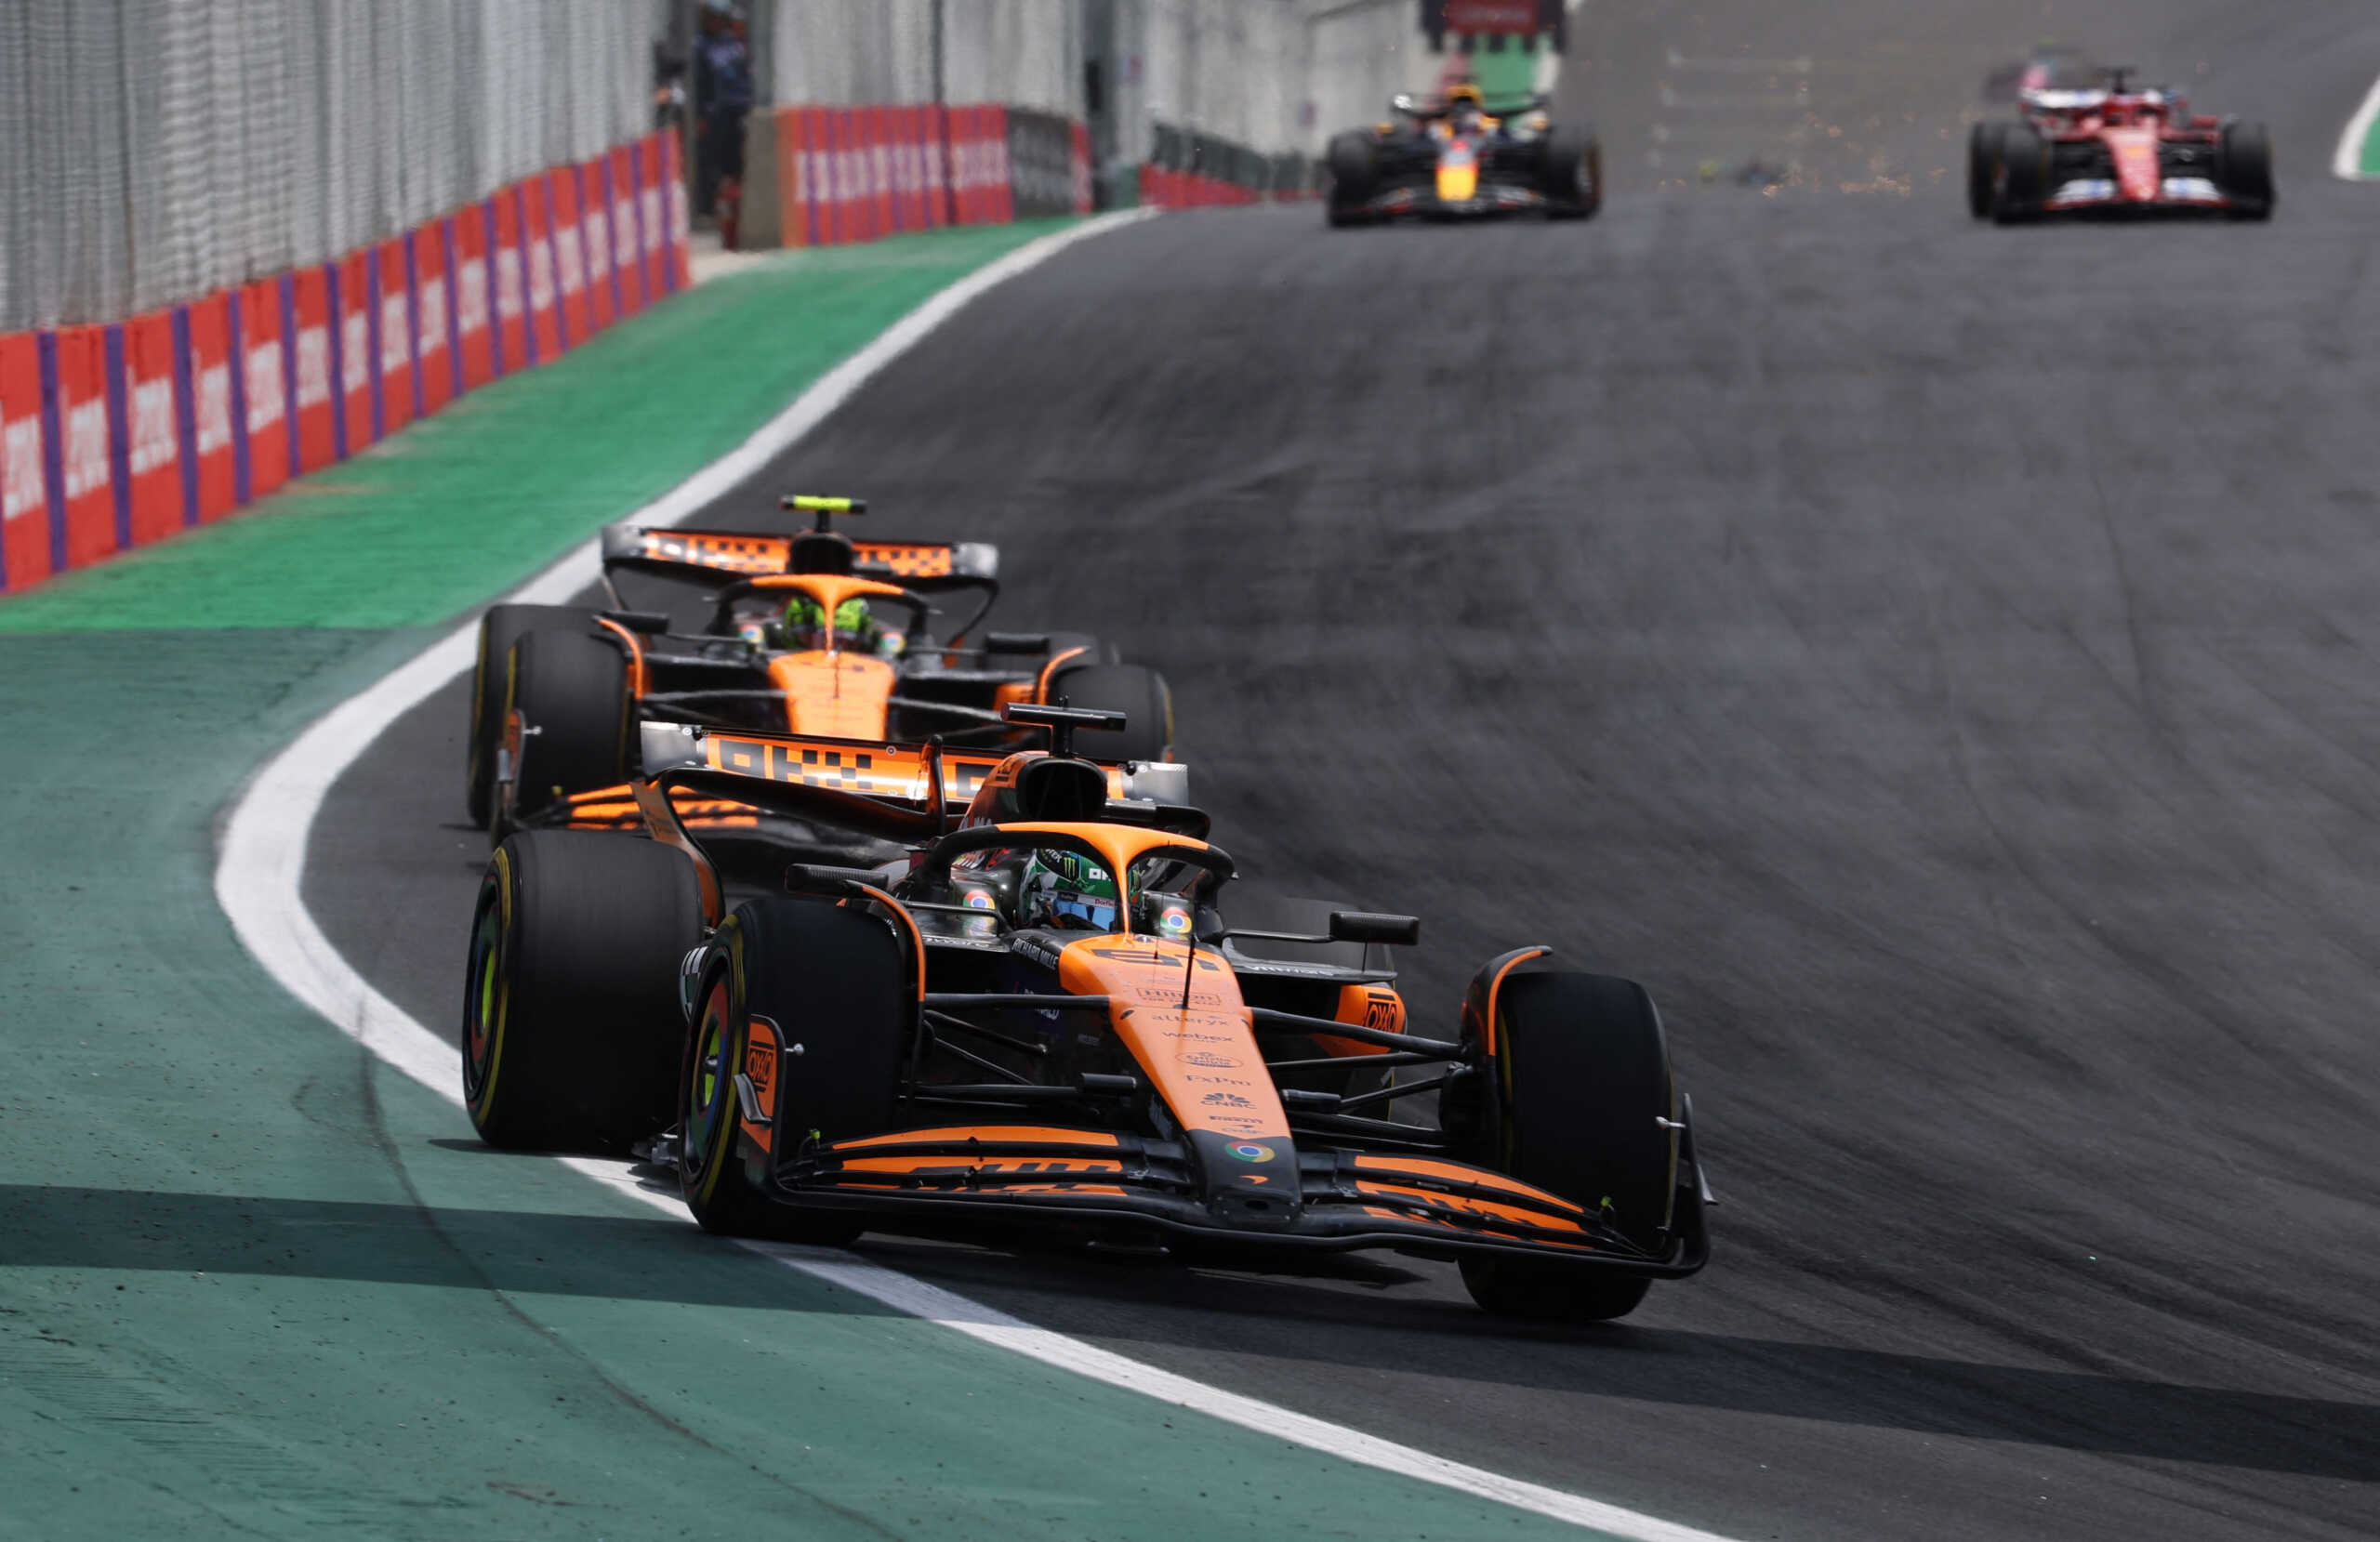
[[[1578,971],[1509,973],[1497,992],[1488,1166],[1599,1211],[1664,1252],[1678,1187],[1678,1090],[1652,997],[1635,980]],[[1609,1321],[1635,1311],[1647,1275],[1595,1273],[1502,1254],[1464,1259],[1471,1299],[1497,1316]]]

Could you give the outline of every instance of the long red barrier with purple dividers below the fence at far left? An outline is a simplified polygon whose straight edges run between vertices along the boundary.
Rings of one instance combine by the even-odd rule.
[[[321,264],[0,336],[0,593],[224,519],[685,283],[678,143],[650,133]]]

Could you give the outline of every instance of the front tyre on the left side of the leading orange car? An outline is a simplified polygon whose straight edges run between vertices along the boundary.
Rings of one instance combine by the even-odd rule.
[[[892,1128],[916,1030],[902,949],[883,919],[823,900],[752,900],[714,933],[678,1076],[678,1187],[704,1230],[821,1247],[862,1233],[769,1199],[754,1166]]]

